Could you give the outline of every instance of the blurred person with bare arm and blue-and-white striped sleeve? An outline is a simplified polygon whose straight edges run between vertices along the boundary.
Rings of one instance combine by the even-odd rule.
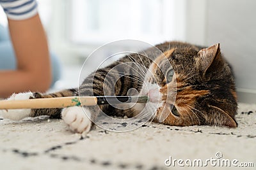
[[[47,38],[36,1],[0,0],[0,4],[7,15],[12,39],[12,45],[10,41],[3,45],[1,41],[6,40],[6,35],[0,36],[0,98],[29,90],[45,92],[52,80],[60,77],[60,71],[54,75],[57,78],[52,76]],[[3,27],[0,31],[4,31]],[[56,57],[52,58],[56,65]]]

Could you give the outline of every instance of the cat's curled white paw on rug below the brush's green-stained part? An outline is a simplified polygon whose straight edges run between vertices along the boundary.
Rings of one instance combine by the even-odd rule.
[[[65,108],[61,112],[61,117],[70,129],[77,133],[87,133],[90,131],[92,122],[88,117],[91,116],[90,111],[86,110],[86,115],[82,107],[74,106]]]

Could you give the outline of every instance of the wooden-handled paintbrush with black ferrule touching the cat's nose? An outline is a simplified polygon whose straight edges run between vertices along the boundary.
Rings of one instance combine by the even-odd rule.
[[[0,110],[67,108],[70,106],[95,106],[97,104],[102,105],[147,102],[147,96],[52,97],[19,101],[0,101]]]

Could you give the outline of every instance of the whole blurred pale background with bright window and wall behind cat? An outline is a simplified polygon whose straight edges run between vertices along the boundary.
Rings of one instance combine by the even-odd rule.
[[[50,48],[64,66],[81,67],[93,50],[118,39],[152,45],[168,40],[220,43],[236,74],[239,100],[256,101],[255,0],[38,0],[38,4]],[[0,23],[7,25],[3,11],[0,16]],[[111,49],[101,57],[109,53]]]

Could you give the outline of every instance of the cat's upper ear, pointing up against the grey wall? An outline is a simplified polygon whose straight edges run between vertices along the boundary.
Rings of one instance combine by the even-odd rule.
[[[196,64],[203,74],[211,66],[215,58],[220,56],[220,43],[204,48],[198,52]]]

